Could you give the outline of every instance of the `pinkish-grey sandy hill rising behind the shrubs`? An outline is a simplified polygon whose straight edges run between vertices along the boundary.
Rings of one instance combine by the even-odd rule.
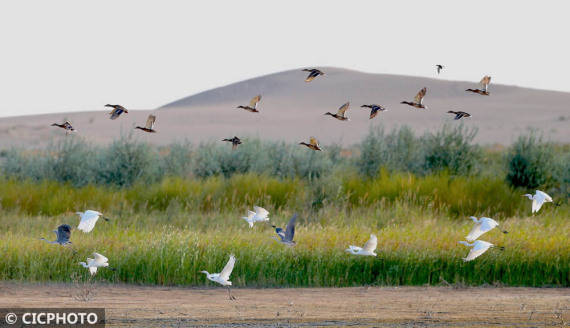
[[[358,142],[368,129],[384,125],[390,129],[409,125],[418,134],[439,129],[453,121],[448,110],[462,110],[473,117],[464,124],[477,127],[476,141],[509,144],[529,128],[541,130],[554,141],[570,142],[570,93],[491,84],[490,96],[465,92],[477,87],[474,82],[448,81],[439,78],[368,74],[325,67],[325,76],[304,82],[305,72],[290,70],[215,88],[169,103],[153,112],[157,115],[157,134],[136,133],[141,140],[156,144],[188,140],[199,143],[234,135],[298,142],[316,136],[322,144]],[[482,72],[481,75],[487,72]],[[489,73],[491,74],[491,73]],[[442,75],[444,76],[444,75]],[[401,105],[418,90],[427,87],[424,103],[427,110]],[[236,109],[257,95],[263,96],[260,113]],[[350,101],[341,122],[329,116]],[[362,104],[376,103],[388,108],[373,120]],[[128,105],[128,104],[125,104]],[[106,110],[98,112],[60,113],[0,119],[0,147],[11,145],[41,146],[64,137],[63,131],[49,125],[70,119],[79,130],[75,137],[95,143],[110,142],[143,125],[148,111],[131,111],[111,121]]]

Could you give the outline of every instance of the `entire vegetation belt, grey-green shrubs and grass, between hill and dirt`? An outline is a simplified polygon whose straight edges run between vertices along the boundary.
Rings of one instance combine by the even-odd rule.
[[[230,253],[234,286],[570,286],[570,149],[531,133],[512,146],[481,147],[475,130],[446,126],[416,136],[406,127],[371,130],[356,147],[313,152],[249,140],[152,147],[130,137],[99,147],[74,139],[0,153],[0,279],[87,279],[79,261],[97,251],[118,270],[96,280],[209,284]],[[536,215],[522,194],[554,197]],[[241,219],[259,205],[284,226],[299,214],[294,248],[268,224]],[[76,211],[112,218],[74,231],[73,248],[39,240]],[[498,220],[482,240],[505,246],[462,257],[469,216]],[[349,244],[378,236],[377,258]]]

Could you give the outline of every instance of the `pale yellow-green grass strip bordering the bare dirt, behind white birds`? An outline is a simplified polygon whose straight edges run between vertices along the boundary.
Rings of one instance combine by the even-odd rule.
[[[547,205],[548,206],[548,205]],[[73,248],[50,245],[61,223],[76,226],[72,214],[29,216],[5,212],[0,216],[0,279],[70,281],[87,272],[78,262],[97,251],[109,258],[116,272],[102,269],[96,280],[159,285],[207,285],[200,270],[219,272],[230,253],[238,259],[234,286],[359,286],[457,283],[509,286],[570,285],[570,234],[566,205],[534,217],[511,217],[480,239],[505,246],[464,263],[469,249],[459,245],[472,226],[467,217],[395,203],[389,207],[339,210],[325,206],[302,211],[297,246],[271,239],[274,231],[257,223],[250,229],[240,219],[245,208],[233,211],[165,211],[108,213],[84,234],[74,230]],[[288,209],[271,213],[283,226]],[[370,233],[378,236],[378,257],[344,252],[362,245]]]

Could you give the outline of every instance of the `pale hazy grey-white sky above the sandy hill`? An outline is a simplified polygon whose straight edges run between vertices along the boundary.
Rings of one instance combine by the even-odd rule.
[[[525,3],[531,3],[527,5]],[[0,116],[153,109],[305,66],[570,91],[567,1],[3,1]]]

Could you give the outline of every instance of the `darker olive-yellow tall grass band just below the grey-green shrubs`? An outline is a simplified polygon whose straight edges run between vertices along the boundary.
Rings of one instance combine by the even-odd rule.
[[[416,176],[390,174],[387,170],[374,178],[352,172],[312,181],[254,173],[234,174],[229,178],[171,177],[129,188],[95,185],[78,188],[55,181],[0,179],[0,206],[4,211],[50,216],[84,208],[150,212],[174,207],[208,212],[264,204],[274,209],[318,211],[326,206],[353,210],[408,204],[450,217],[504,218],[529,213],[530,203],[521,197],[523,193],[524,190],[512,189],[498,177],[453,176],[446,172]],[[555,198],[557,202],[567,202],[558,195]]]

